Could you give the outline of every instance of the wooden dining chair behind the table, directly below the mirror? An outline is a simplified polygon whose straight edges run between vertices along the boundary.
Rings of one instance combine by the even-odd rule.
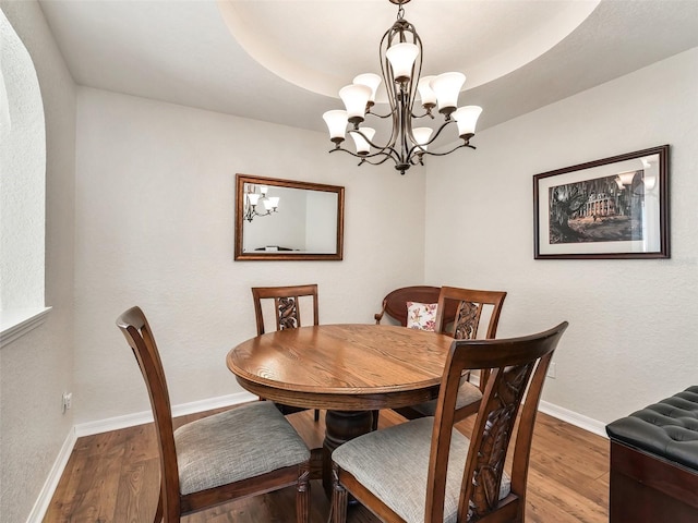
[[[301,309],[312,307],[313,324],[318,325],[317,313],[317,284],[310,285],[287,285],[287,287],[253,287],[252,299],[254,301],[254,316],[257,324],[257,336],[266,332],[264,326],[265,307],[263,301],[273,300],[273,314],[276,323],[276,330],[294,329],[301,327]],[[306,307],[305,300],[310,302]],[[300,406],[282,405],[275,403],[276,408],[284,414],[306,411]],[[320,419],[320,411],[315,410],[314,418]]]

